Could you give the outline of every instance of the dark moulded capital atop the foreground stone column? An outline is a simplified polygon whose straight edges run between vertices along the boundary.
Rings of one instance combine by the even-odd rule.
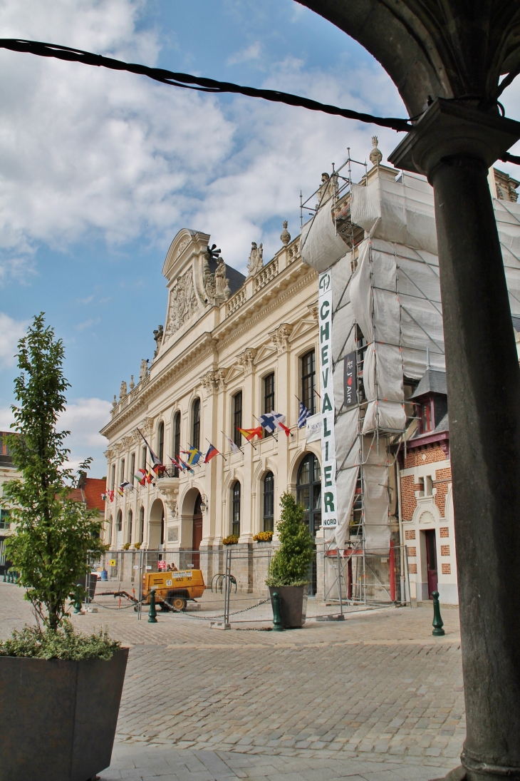
[[[514,119],[437,98],[388,160],[396,168],[426,177],[442,159],[454,155],[469,155],[490,168],[519,138],[520,122]]]

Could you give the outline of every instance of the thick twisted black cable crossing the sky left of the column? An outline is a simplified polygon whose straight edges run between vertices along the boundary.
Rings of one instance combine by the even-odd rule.
[[[409,119],[373,116],[372,114],[364,114],[351,109],[340,109],[336,105],[319,103],[310,100],[310,98],[291,95],[288,92],[241,87],[239,84],[232,84],[228,81],[216,81],[214,79],[190,76],[189,73],[174,73],[163,68],[149,68],[146,65],[122,62],[119,59],[103,57],[98,54],[92,54],[92,52],[83,52],[81,49],[69,48],[69,46],[46,44],[41,41],[25,41],[21,38],[0,38],[0,48],[9,49],[12,52],[28,52],[38,57],[55,57],[56,59],[65,59],[69,62],[83,62],[84,65],[111,68],[111,70],[126,70],[129,73],[138,73],[140,76],[147,76],[155,81],[160,81],[161,84],[170,84],[173,87],[184,87],[185,89],[197,90],[199,92],[235,92],[238,95],[247,95],[249,98],[264,98],[264,100],[274,103],[297,105],[303,109],[321,111],[333,116],[342,116],[345,119],[358,119],[359,122],[372,123],[380,127],[391,127],[393,130],[402,132],[408,132],[413,127]]]

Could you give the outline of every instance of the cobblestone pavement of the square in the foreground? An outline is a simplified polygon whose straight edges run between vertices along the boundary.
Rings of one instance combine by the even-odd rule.
[[[2,637],[30,620],[21,596],[0,583]],[[102,779],[391,781],[458,765],[465,722],[453,608],[444,608],[441,638],[431,635],[431,608],[357,612],[284,633],[146,619],[101,608],[73,619],[89,631],[108,626],[131,647]]]

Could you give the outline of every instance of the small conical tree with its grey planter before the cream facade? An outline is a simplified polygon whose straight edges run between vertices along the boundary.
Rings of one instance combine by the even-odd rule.
[[[282,494],[277,524],[280,547],[271,559],[266,580],[271,601],[280,597],[281,621],[285,629],[303,626],[306,619],[309,566],[313,559],[313,538],[303,520],[303,508],[290,491]]]

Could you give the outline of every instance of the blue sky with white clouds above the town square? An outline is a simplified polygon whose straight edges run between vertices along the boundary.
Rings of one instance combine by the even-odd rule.
[[[373,57],[294,0],[0,0],[0,31],[406,116]],[[518,84],[503,102],[520,119]],[[299,233],[300,190],[311,194],[347,148],[364,161],[377,134],[386,159],[403,137],[5,50],[0,106],[0,430],[12,421],[16,344],[43,311],[65,344],[72,387],[60,423],[71,431],[71,465],[93,456],[97,477],[111,399],[137,379],[164,323],[161,269],[175,234],[211,234],[243,272],[251,241],[264,243],[267,260],[284,219]]]

